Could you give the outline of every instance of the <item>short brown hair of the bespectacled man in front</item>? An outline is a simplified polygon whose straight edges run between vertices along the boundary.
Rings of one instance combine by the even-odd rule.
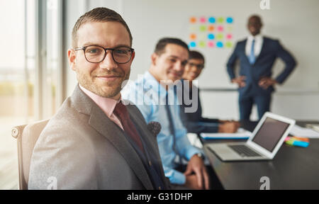
[[[83,16],[77,19],[77,23],[75,23],[72,30],[72,47],[77,47],[77,30],[79,30],[79,28],[81,28],[81,26],[85,23],[108,21],[121,23],[126,30],[128,30],[128,35],[130,35],[130,46],[132,46],[133,37],[130,33],[130,28],[128,28],[128,24],[125,23],[122,16],[109,8],[99,7],[84,13]]]

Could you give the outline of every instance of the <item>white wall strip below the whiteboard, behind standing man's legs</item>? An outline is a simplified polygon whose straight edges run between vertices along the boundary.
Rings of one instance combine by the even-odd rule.
[[[201,91],[203,115],[220,119],[239,119],[238,94],[235,91]],[[277,91],[272,99],[273,113],[296,120],[319,120],[318,91]],[[252,109],[251,120],[257,120],[257,108]]]

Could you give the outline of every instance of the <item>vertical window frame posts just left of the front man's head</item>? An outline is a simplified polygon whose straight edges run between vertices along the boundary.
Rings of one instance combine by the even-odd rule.
[[[25,0],[28,1],[28,0]],[[44,87],[47,74],[47,2],[50,0],[35,0],[35,86],[34,86],[34,115],[35,120],[43,120],[52,117],[46,110],[50,98],[45,97]],[[56,110],[65,100],[65,1],[57,0],[57,86],[55,89],[54,105]],[[54,114],[54,113],[53,113]]]

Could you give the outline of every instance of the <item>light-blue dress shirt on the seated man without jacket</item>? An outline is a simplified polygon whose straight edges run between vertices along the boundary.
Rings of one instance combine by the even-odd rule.
[[[169,118],[164,106],[167,94],[169,94],[169,104],[174,102],[173,105],[169,106],[169,110],[172,113],[172,120],[174,121],[175,148],[173,147],[174,136],[170,133]],[[145,74],[143,74],[142,77],[138,77],[138,80],[134,83],[128,83],[121,91],[121,95],[122,98],[132,101],[135,106],[139,108],[146,123],[156,121],[162,125],[162,129],[157,135],[157,144],[162,159],[164,174],[169,178],[171,183],[184,184],[186,177],[181,172],[175,170],[178,166],[178,164],[174,162],[177,154],[189,160],[194,154],[201,152],[201,150],[192,146],[186,136],[187,130],[181,123],[179,103],[176,94],[174,94],[173,87],[166,91],[150,72],[145,72]],[[174,149],[176,152],[174,152]]]

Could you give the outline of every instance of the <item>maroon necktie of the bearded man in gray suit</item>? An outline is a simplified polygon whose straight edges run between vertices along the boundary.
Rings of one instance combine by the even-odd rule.
[[[130,115],[128,115],[128,109],[126,106],[124,106],[120,101],[118,104],[116,104],[116,108],[114,108],[113,113],[118,116],[119,120],[121,120],[124,132],[126,132],[126,134],[128,134],[128,136],[130,136],[130,138],[135,142],[135,144],[140,147],[140,150],[144,152],[140,135],[138,134],[138,131],[136,130],[132,120],[130,120]]]

